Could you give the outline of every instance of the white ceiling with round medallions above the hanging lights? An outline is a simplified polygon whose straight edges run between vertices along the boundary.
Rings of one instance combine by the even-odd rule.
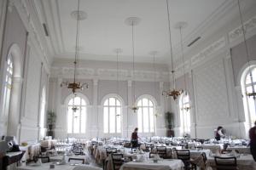
[[[169,0],[172,42],[179,44],[179,31],[174,26],[179,21],[188,22],[183,31],[185,44],[198,36],[201,27],[208,24],[220,10],[234,0]],[[80,9],[88,17],[80,21],[80,59],[115,60],[114,48],[122,48],[120,60],[131,61],[131,26],[125,19],[141,18],[135,26],[135,60],[151,62],[149,52],[159,51],[157,61],[170,61],[169,33],[166,0],[81,0]],[[73,59],[76,20],[71,13],[77,9],[76,0],[41,0],[44,20],[49,28],[49,42],[55,58]]]

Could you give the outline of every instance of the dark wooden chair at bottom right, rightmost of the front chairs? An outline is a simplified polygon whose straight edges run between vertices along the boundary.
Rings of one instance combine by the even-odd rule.
[[[217,170],[238,170],[236,157],[219,157],[215,156],[214,161]]]

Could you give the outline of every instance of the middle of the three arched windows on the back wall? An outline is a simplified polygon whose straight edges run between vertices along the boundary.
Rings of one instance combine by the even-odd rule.
[[[104,133],[121,133],[121,102],[115,97],[104,101]]]

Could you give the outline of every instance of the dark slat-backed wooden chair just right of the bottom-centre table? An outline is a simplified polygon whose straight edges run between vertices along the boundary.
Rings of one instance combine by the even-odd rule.
[[[190,151],[189,150],[176,150],[177,159],[180,159],[184,163],[184,169],[196,169],[195,164],[190,161]]]

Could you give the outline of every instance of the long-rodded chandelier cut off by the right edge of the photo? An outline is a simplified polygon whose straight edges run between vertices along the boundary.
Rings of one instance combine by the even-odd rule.
[[[242,15],[241,15],[240,0],[237,0],[237,4],[238,4],[239,16],[240,16],[240,20],[241,20],[241,31],[242,31],[242,36],[243,36],[243,42],[244,42],[246,55],[247,55],[247,63],[248,63],[248,68],[249,68],[250,81],[253,82],[253,74],[252,74],[252,68],[251,68],[251,63],[250,63],[250,59],[249,59],[249,50],[248,50],[248,46],[247,46],[246,31],[245,31],[245,27],[244,27],[243,20],[242,20]],[[246,95],[248,97],[253,97],[253,99],[255,100],[256,99],[256,92],[255,92],[255,88],[253,86],[253,83],[252,83],[252,90],[253,91],[251,93],[246,92]]]

